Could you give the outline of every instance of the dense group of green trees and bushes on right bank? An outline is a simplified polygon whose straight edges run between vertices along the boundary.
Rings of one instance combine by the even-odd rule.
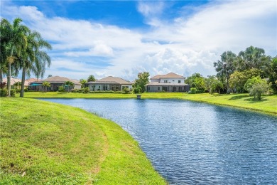
[[[238,55],[226,51],[214,62],[217,75],[194,73],[185,80],[193,93],[277,93],[277,57],[266,56],[263,48],[250,46]]]

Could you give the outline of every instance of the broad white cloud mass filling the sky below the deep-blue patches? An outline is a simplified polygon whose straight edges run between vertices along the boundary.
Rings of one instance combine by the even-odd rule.
[[[2,16],[10,20],[23,18],[24,23],[53,43],[53,65],[47,73],[71,78],[95,74],[97,78],[115,75],[134,80],[142,70],[151,75],[212,75],[212,63],[226,50],[238,53],[252,45],[264,48],[271,56],[277,53],[276,1],[211,3],[190,17],[180,12],[172,21],[160,17],[165,3],[139,2],[138,11],[153,26],[149,31],[48,18],[34,6],[9,5],[1,10]],[[105,60],[97,62],[94,57]]]

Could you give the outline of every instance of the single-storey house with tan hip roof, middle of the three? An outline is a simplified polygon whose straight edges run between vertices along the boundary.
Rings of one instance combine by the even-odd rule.
[[[89,87],[89,90],[114,90],[119,91],[124,88],[128,88],[131,90],[132,83],[127,80],[118,77],[108,76],[106,78],[102,78],[100,80],[96,80],[95,82],[85,83],[86,87]]]

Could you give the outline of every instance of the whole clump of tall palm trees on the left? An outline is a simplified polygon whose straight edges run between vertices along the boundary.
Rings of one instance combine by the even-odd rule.
[[[40,33],[24,26],[21,18],[15,18],[12,23],[2,18],[0,39],[0,83],[5,74],[8,96],[11,96],[11,75],[18,75],[19,70],[22,70],[20,97],[23,97],[26,75],[33,73],[36,78],[43,78],[45,68],[51,63],[45,49],[50,50],[52,47]]]

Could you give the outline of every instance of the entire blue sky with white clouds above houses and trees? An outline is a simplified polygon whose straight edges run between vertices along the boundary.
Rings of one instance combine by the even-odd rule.
[[[45,76],[134,80],[214,75],[224,51],[264,48],[276,56],[276,1],[1,1],[1,18],[21,17],[49,41]]]

